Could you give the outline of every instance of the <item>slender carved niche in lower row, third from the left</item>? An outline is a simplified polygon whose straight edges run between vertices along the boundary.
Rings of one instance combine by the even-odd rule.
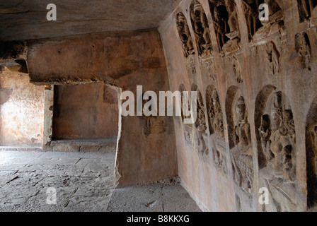
[[[211,85],[207,88],[207,114],[209,132],[213,141],[212,156],[214,164],[226,174],[226,148],[224,141],[224,119],[221,111],[219,95]]]

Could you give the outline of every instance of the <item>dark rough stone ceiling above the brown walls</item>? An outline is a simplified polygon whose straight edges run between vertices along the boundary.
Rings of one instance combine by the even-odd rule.
[[[0,40],[157,28],[180,0],[0,0]],[[57,6],[48,21],[47,4]]]

